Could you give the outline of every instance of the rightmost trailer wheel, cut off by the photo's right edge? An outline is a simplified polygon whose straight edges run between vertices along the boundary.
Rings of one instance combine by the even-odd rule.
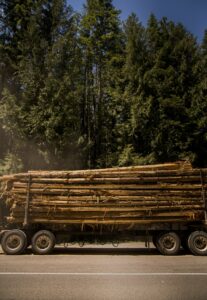
[[[188,237],[188,247],[194,255],[207,255],[207,233],[193,231]]]

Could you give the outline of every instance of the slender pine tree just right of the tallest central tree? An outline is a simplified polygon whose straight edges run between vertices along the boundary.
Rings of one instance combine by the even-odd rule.
[[[116,122],[119,141],[117,157],[119,165],[130,165],[138,162],[133,137],[136,127],[135,112],[139,90],[143,84],[148,53],[145,29],[135,14],[129,16],[125,22],[124,33],[125,63],[120,89],[122,107]]]

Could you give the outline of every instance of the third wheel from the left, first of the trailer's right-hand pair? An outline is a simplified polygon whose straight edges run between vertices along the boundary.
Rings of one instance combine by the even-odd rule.
[[[180,250],[181,240],[175,232],[164,232],[157,236],[157,250],[163,255],[176,255]]]

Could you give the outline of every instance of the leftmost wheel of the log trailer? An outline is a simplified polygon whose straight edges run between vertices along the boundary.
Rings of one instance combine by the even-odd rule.
[[[24,252],[27,246],[27,236],[22,230],[12,229],[4,233],[1,247],[8,255],[17,255]]]

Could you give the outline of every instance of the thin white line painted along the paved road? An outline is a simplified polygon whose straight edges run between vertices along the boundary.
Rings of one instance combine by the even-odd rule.
[[[54,273],[54,272],[0,272],[4,275],[58,275],[58,276],[207,276],[207,273]]]

